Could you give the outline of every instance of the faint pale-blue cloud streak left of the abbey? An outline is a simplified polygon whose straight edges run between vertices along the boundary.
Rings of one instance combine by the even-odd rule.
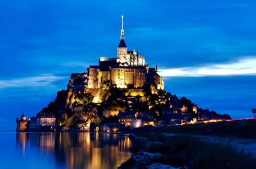
[[[62,79],[67,79],[67,77],[41,74],[39,76],[24,77],[20,79],[0,80],[0,89],[10,87],[50,87],[53,86],[54,82]]]

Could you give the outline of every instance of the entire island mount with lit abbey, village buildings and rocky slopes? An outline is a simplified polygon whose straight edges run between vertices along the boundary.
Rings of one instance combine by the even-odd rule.
[[[222,119],[230,116],[199,108],[164,89],[157,63],[149,67],[146,56],[126,46],[122,16],[117,57],[100,57],[98,65],[72,73],[67,89],[57,92],[48,107],[29,119],[25,113],[17,118],[16,131],[118,132]]]

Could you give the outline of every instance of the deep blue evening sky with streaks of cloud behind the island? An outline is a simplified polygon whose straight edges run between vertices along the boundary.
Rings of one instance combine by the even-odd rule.
[[[116,57],[121,15],[127,47],[157,64],[168,92],[233,118],[253,115],[254,1],[1,1],[0,129],[47,106],[71,73]]]

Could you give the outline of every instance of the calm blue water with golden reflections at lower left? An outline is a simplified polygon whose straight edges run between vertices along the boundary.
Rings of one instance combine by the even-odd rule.
[[[0,132],[0,168],[117,168],[131,157],[127,136]]]

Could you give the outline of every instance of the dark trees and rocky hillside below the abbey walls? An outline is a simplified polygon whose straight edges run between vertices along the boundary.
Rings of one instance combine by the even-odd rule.
[[[96,105],[94,99],[99,94],[99,103]],[[130,102],[128,103],[130,99]],[[131,101],[132,99],[132,101]],[[132,103],[131,103],[132,102]],[[172,118],[181,119],[182,106],[191,110],[193,103],[191,100],[182,97],[178,99],[176,95],[165,90],[156,89],[156,86],[150,85],[148,88],[118,88],[109,87],[109,82],[104,82],[100,89],[68,89],[57,92],[55,101],[49,103],[40,113],[53,113],[56,117],[57,125],[65,128],[81,128],[85,123],[94,122],[95,119],[101,119],[101,123],[117,122],[115,118],[107,120],[102,116],[102,110],[135,110],[135,111],[153,111],[155,120],[165,120],[162,118],[162,110],[164,108],[175,107],[176,113],[172,114]],[[94,109],[94,113],[87,109]],[[199,109],[204,112],[203,109]],[[214,114],[215,117],[220,115],[216,112],[206,111]],[[88,113],[88,114],[87,114]],[[193,118],[198,118],[199,114],[190,111]],[[225,118],[230,118],[228,115]],[[90,120],[91,119],[91,120]],[[187,120],[187,119],[186,119]]]

